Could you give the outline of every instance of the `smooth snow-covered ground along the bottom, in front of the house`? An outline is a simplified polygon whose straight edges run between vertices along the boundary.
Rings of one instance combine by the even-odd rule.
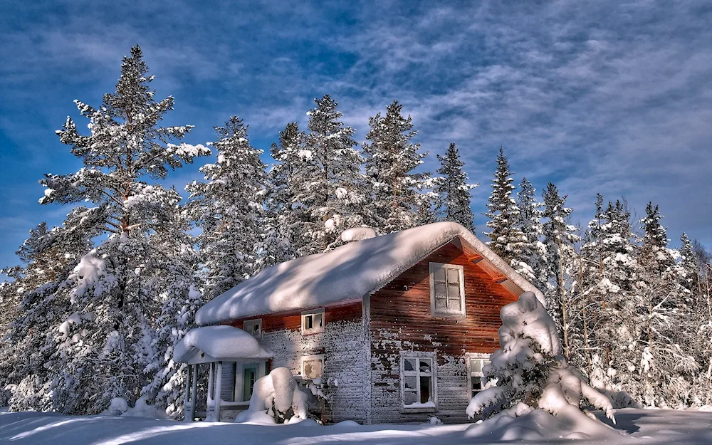
[[[712,412],[619,409],[617,428],[625,435],[589,439],[528,440],[526,444],[712,444]],[[345,422],[318,426],[259,426],[172,422],[136,417],[62,416],[53,413],[0,412],[0,444],[32,445],[189,445],[189,444],[495,444],[491,434],[465,434],[471,424],[371,425]],[[521,442],[506,442],[521,443]]]

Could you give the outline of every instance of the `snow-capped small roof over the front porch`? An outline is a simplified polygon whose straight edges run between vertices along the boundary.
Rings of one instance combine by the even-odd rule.
[[[193,362],[197,352],[199,362],[213,362],[223,359],[255,360],[268,359],[272,352],[261,347],[255,337],[244,330],[228,325],[203,326],[188,333],[173,348],[173,360],[180,363]]]

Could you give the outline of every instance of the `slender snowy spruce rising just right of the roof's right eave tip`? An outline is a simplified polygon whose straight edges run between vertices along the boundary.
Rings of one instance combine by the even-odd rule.
[[[569,357],[570,324],[567,318],[572,309],[568,307],[572,300],[569,288],[571,281],[575,279],[569,264],[575,260],[576,251],[573,244],[580,241],[580,237],[576,235],[577,228],[569,224],[573,210],[566,207],[567,196],[561,196],[551,182],[547,184],[542,196],[543,217],[547,219],[543,225],[544,244],[549,260],[549,276],[555,283],[555,286],[545,294],[547,310],[552,315],[559,332],[562,333],[563,352],[566,357]]]

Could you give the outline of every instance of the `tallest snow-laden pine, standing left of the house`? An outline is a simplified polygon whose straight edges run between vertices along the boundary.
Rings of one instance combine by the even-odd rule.
[[[57,132],[84,167],[41,181],[41,204],[93,203],[93,229],[109,235],[57,289],[56,298],[68,298],[74,310],[55,331],[58,368],[49,390],[59,411],[101,412],[113,397],[135,399],[151,377],[145,369],[156,353],[152,319],[164,303],[158,295],[174,282],[167,263],[180,261],[165,248],[182,230],[171,226],[181,197],[143,179],[162,179],[168,169],[209,154],[201,145],[169,142],[192,127],[159,125],[174,100],[156,101],[152,80],[141,49],[131,48],[115,92],[100,108],[76,101],[90,135],[81,135],[71,118]],[[155,240],[158,233],[164,236]]]

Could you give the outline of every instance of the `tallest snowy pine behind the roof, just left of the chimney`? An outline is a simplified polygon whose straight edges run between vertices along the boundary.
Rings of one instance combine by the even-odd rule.
[[[324,251],[342,231],[365,222],[362,157],[355,149],[355,130],[340,121],[342,112],[329,95],[315,103],[307,113],[309,131],[292,185],[295,205],[305,209],[300,256]]]

